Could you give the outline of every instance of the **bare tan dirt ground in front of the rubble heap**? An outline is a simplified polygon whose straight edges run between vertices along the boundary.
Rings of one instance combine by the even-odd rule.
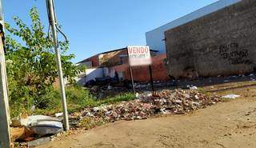
[[[256,147],[256,82],[206,86],[237,98],[186,115],[115,122],[38,148],[76,147]]]

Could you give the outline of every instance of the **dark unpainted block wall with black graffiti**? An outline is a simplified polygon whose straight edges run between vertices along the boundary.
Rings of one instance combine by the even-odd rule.
[[[243,0],[165,32],[167,74],[198,76],[256,69],[256,1]],[[185,75],[185,76],[184,76]]]

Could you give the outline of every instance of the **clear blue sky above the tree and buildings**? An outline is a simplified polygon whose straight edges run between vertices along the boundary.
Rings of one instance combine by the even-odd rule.
[[[45,0],[2,0],[5,19],[30,23],[37,6],[47,25]],[[218,0],[55,0],[58,22],[70,40],[73,62],[107,50],[146,45],[145,33]]]

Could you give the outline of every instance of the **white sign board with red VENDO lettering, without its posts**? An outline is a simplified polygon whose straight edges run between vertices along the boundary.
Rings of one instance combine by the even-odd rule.
[[[151,65],[149,46],[128,46],[130,66],[149,66]]]

